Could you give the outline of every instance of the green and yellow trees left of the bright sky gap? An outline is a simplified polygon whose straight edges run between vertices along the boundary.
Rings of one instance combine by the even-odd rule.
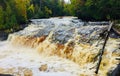
[[[0,29],[18,27],[32,18],[69,15],[68,9],[64,0],[0,0]]]

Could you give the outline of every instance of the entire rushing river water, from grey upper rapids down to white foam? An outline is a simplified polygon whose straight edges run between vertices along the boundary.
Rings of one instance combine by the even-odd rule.
[[[8,42],[0,44],[1,73],[18,73],[20,76],[96,76],[94,72],[98,59],[95,57],[103,43],[102,40],[97,44],[97,39],[107,25],[85,25],[76,17],[31,21],[32,24],[24,30],[9,35]],[[6,43],[9,44],[6,46]],[[118,61],[115,58],[120,56],[119,45],[120,39],[108,40],[97,76],[107,76],[108,71],[116,67]],[[39,71],[42,67],[45,73]]]

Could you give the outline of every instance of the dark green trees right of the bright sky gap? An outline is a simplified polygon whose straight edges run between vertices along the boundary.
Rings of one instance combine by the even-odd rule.
[[[71,0],[70,6],[84,20],[120,19],[120,0]]]

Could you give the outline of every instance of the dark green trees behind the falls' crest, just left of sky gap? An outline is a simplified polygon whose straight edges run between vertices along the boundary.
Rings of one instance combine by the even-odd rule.
[[[31,0],[34,6],[32,18],[48,18],[69,15],[67,4],[64,0]]]

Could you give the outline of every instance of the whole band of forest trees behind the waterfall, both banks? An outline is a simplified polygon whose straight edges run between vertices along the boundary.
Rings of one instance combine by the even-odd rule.
[[[0,0],[0,30],[17,29],[33,18],[77,16],[85,21],[120,19],[120,0]]]

